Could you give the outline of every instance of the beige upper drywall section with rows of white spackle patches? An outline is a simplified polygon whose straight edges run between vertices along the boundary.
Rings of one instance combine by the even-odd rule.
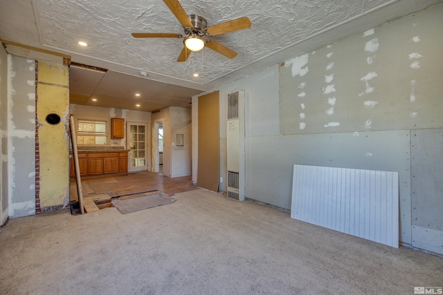
[[[429,8],[286,61],[282,134],[442,126],[442,11]]]

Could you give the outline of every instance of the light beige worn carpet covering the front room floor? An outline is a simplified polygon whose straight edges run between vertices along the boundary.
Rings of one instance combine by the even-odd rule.
[[[0,294],[413,294],[443,258],[293,220],[202,189],[130,214],[15,218]]]

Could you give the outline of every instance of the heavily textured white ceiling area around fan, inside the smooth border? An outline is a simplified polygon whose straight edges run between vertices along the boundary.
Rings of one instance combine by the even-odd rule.
[[[131,32],[182,32],[179,21],[161,0],[46,0],[35,1],[42,44],[96,59],[206,83],[386,3],[377,1],[196,1],[181,0],[188,14],[206,18],[208,26],[246,16],[252,27],[213,37],[235,50],[235,59],[206,49],[177,63],[183,39],[134,39]],[[80,50],[75,43],[91,44]],[[203,65],[202,65],[203,64]]]

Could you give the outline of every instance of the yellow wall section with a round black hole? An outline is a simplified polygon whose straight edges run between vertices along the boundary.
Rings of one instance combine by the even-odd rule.
[[[42,209],[64,204],[69,191],[69,137],[65,130],[69,116],[68,75],[67,66],[39,61],[37,120]],[[61,117],[59,124],[46,122],[46,116],[50,113]]]

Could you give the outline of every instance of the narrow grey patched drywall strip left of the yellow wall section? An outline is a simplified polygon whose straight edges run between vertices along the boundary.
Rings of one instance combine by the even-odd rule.
[[[8,55],[7,145],[10,217],[35,214],[35,60]]]

